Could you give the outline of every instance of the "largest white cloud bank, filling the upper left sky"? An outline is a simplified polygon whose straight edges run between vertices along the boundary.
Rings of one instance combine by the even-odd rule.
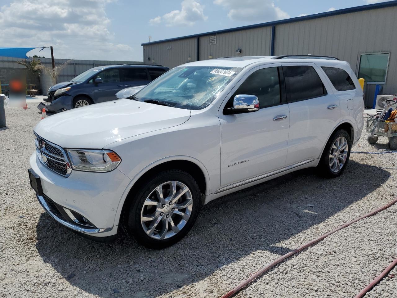
[[[129,45],[114,43],[105,9],[109,2],[112,1],[13,0],[0,8],[0,44],[51,45],[55,58],[137,60]],[[29,54],[42,56],[44,52],[48,57],[47,50]]]

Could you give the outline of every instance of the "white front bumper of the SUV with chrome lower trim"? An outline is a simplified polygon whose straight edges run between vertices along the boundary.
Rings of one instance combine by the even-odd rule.
[[[115,218],[118,205],[131,181],[117,168],[107,173],[73,170],[66,178],[44,166],[39,161],[36,151],[30,157],[30,166],[40,177],[42,186],[43,195],[37,195],[37,198],[56,221],[73,231],[95,237],[112,236],[117,233],[118,222],[115,223]],[[59,212],[56,212],[56,209],[62,208],[81,215],[92,223],[94,228],[73,224],[67,216],[62,218]]]

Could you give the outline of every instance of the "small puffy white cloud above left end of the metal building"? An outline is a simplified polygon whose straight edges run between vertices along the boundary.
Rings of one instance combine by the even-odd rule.
[[[162,17],[150,19],[150,25],[165,23],[166,26],[193,26],[197,21],[206,21],[208,17],[204,15],[204,5],[194,0],[184,0],[181,3],[181,10],[173,10]]]

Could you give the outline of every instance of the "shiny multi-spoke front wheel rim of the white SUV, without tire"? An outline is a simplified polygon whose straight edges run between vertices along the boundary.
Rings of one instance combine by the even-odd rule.
[[[179,181],[160,184],[150,192],[141,209],[141,225],[145,233],[157,240],[178,234],[189,221],[193,197]]]

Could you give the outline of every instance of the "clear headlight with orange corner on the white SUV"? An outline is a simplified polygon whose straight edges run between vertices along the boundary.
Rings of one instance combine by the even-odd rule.
[[[88,172],[110,172],[121,162],[120,157],[110,150],[66,149],[73,170]]]

